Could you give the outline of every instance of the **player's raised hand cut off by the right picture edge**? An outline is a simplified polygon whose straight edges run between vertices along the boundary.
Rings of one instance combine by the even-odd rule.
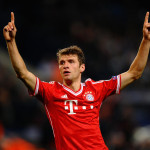
[[[149,18],[149,12],[147,12],[145,15],[145,21],[143,25],[143,37],[146,40],[150,40],[150,23],[148,22],[148,18]]]

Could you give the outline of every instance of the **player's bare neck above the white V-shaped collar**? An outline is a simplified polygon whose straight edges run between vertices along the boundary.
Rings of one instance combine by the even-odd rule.
[[[78,80],[75,82],[75,81],[67,80],[67,81],[63,81],[63,84],[76,92],[80,89],[81,81]]]

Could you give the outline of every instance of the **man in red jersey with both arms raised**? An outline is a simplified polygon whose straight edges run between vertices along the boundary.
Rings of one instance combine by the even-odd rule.
[[[71,46],[57,53],[63,84],[41,82],[28,71],[15,42],[14,13],[3,34],[8,52],[17,74],[28,87],[30,94],[37,96],[45,105],[47,117],[54,131],[58,150],[107,150],[99,129],[99,110],[103,100],[138,79],[145,68],[150,48],[149,12],[143,25],[143,39],[137,56],[129,70],[110,80],[94,82],[87,79],[81,83],[85,70],[82,50]]]

